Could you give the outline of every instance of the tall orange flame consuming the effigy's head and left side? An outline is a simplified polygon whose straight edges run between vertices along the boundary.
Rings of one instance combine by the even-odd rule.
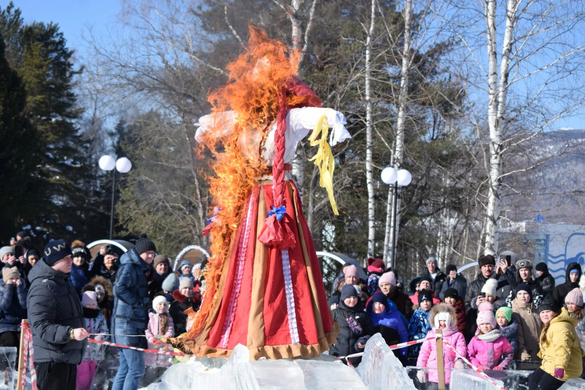
[[[240,222],[240,209],[250,196],[255,179],[267,169],[260,149],[268,125],[277,116],[278,95],[283,86],[297,80],[300,53],[289,51],[279,40],[269,39],[263,29],[250,26],[249,33],[247,51],[226,66],[229,73],[226,85],[208,95],[212,112],[233,110],[238,112],[238,119],[228,134],[224,134],[225,124],[221,121],[202,134],[200,146],[208,147],[214,156],[210,166],[215,175],[207,181],[213,198],[211,210],[219,208],[216,214],[220,223],[211,226],[212,256],[204,274],[206,299],[189,331],[191,339],[201,330],[211,303],[219,298],[219,278]],[[304,100],[288,95],[287,106]],[[199,156],[201,152],[202,149],[198,150]]]

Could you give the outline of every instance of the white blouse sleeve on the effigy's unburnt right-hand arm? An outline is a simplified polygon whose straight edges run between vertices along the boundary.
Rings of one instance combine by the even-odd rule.
[[[295,141],[300,141],[307,136],[309,130],[315,127],[315,123],[324,113],[327,124],[332,129],[329,136],[331,146],[335,146],[338,142],[343,142],[352,137],[343,126],[347,123],[345,116],[339,111],[330,108],[303,107],[290,109],[287,113],[287,129],[292,130]]]

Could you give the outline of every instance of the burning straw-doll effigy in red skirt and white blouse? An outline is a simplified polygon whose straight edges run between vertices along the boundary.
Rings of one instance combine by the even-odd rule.
[[[342,113],[298,78],[300,53],[250,27],[247,50],[211,91],[195,137],[211,152],[213,198],[206,227],[211,258],[201,308],[173,344],[198,357],[228,357],[243,344],[250,359],[316,357],[336,341],[321,270],[298,189],[295,146],[309,136],[311,159],[333,212],[331,146],[350,138]]]

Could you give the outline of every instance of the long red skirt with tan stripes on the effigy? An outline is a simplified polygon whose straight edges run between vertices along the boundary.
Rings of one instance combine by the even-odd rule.
[[[334,329],[301,199],[294,182],[285,183],[296,245],[271,249],[257,240],[273,194],[270,181],[254,187],[221,270],[218,298],[204,302],[211,305],[209,315],[192,343],[185,343],[198,357],[227,357],[238,344],[248,347],[252,360],[316,357],[335,344],[339,327]]]

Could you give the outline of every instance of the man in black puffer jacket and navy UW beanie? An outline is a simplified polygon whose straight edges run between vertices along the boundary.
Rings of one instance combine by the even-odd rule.
[[[83,309],[69,279],[72,263],[69,244],[54,240],[29,272],[27,309],[40,390],[75,390],[77,365],[87,348]]]

